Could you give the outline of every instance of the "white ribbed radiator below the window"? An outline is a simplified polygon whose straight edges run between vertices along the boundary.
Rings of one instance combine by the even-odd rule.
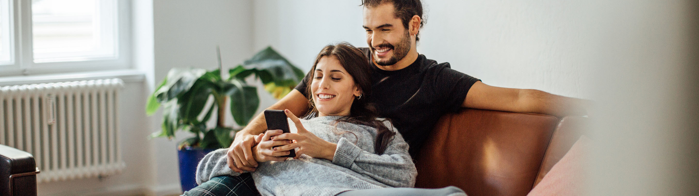
[[[116,174],[120,79],[0,87],[0,144],[34,155],[38,182]]]

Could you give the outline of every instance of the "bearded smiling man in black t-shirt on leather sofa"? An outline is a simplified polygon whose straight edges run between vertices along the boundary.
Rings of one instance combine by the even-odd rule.
[[[374,103],[378,112],[391,119],[408,141],[411,156],[419,156],[415,153],[440,116],[461,107],[553,116],[585,113],[586,100],[532,89],[489,86],[475,77],[452,70],[449,63],[438,64],[426,59],[416,49],[423,24],[419,0],[363,1],[363,28],[368,44],[363,51],[375,65],[372,76]],[[304,89],[305,82],[301,82],[268,109],[288,109],[296,116],[303,116],[308,111]],[[257,162],[251,148],[257,144],[255,135],[265,130],[264,115],[260,114],[236,134],[228,151],[228,164],[233,171],[254,171]],[[270,155],[261,153],[257,156]],[[238,177],[239,183],[254,186],[249,177],[242,178]]]

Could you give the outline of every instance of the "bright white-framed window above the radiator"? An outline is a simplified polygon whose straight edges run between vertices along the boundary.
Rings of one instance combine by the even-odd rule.
[[[0,3],[0,76],[128,68],[126,0]]]

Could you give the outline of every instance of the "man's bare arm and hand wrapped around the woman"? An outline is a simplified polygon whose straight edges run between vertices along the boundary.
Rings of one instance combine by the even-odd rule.
[[[292,89],[287,96],[267,108],[267,110],[284,109],[288,109],[296,116],[303,116],[308,112],[308,99],[298,90]],[[234,172],[242,173],[243,170],[252,172],[254,167],[257,167],[257,161],[252,155],[252,146],[256,145],[254,137],[264,133],[265,130],[267,130],[267,123],[264,119],[264,113],[260,113],[243,130],[236,133],[236,140],[233,140],[233,144],[227,152],[228,166]]]

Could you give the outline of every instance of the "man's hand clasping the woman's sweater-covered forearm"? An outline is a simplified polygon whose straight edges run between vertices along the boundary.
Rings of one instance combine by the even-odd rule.
[[[255,161],[252,155],[252,146],[255,144],[257,144],[255,135],[245,133],[236,135],[236,140],[233,141],[226,153],[228,155],[228,167],[233,172],[243,173],[243,170],[247,172],[255,171],[257,161]]]

